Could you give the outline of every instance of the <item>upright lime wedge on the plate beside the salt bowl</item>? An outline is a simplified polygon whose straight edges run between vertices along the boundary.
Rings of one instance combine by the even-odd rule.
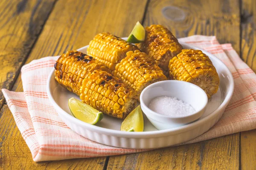
[[[143,132],[144,129],[144,121],[143,114],[140,108],[140,105],[131,111],[130,114],[125,118],[122,122],[121,130],[128,132]]]

